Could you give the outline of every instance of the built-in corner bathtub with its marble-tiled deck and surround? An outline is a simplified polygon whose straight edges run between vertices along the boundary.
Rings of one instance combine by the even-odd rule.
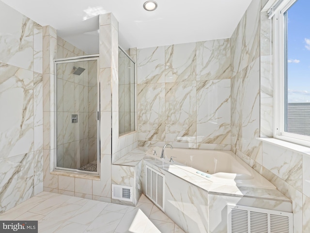
[[[153,155],[153,149],[157,156]],[[228,205],[292,212],[291,200],[274,188],[272,184],[267,184],[268,181],[260,177],[260,174],[229,151],[215,153],[214,150],[177,148],[171,150],[166,148],[166,159],[163,160],[159,158],[161,150],[162,148],[159,147],[138,147],[115,161],[111,170],[112,183],[135,187],[133,199],[137,201],[134,201],[133,204],[136,205],[141,193],[147,194],[147,168],[162,175],[164,184],[163,188],[159,189],[164,194],[162,210],[186,233],[227,233]],[[208,158],[206,160],[198,159],[199,156],[196,154],[199,153],[202,153],[204,159]],[[213,156],[207,156],[210,154]],[[189,161],[183,161],[184,164],[180,163],[181,155],[184,155]],[[177,157],[174,158],[176,162],[169,162],[171,156]],[[190,163],[195,161],[196,157],[199,161],[198,165],[202,164],[202,167],[206,167],[207,170],[200,166],[191,167],[193,165]],[[214,166],[214,164],[210,165],[214,158],[217,159],[217,166],[212,171],[209,167]],[[220,164],[219,161],[224,164]],[[205,163],[210,166],[205,166]],[[212,177],[207,179],[207,177],[199,175],[196,173],[197,168],[203,172],[208,171]],[[226,177],[220,173],[225,173]],[[245,175],[238,176],[237,174]],[[217,175],[221,175],[221,178],[218,178]],[[227,176],[235,177],[228,179]],[[243,179],[240,179],[241,177]],[[222,183],[216,183],[216,181]],[[255,182],[257,183],[255,184]],[[154,193],[157,194],[157,192]],[[154,199],[150,198],[150,200]],[[128,204],[114,199],[112,201]]]

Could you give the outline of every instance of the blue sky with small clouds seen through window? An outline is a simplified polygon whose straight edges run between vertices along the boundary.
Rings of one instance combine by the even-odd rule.
[[[310,0],[288,10],[288,101],[310,102]]]

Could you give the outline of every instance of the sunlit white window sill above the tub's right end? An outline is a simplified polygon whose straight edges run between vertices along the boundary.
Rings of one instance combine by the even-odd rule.
[[[302,146],[302,145],[295,144],[295,143],[288,142],[288,141],[283,141],[283,140],[273,138],[273,137],[269,137],[269,138],[259,137],[257,139],[262,142],[266,142],[272,145],[282,147],[286,150],[291,150],[297,153],[310,155],[310,147]]]

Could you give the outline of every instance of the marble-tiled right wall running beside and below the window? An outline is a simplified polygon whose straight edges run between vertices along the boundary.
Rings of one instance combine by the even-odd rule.
[[[255,139],[273,136],[273,23],[260,12],[265,3],[252,0],[231,37],[232,150],[292,200],[294,233],[306,233],[309,156]]]

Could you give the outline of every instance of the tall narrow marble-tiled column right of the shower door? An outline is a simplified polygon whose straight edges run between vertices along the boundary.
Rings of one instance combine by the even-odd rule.
[[[93,199],[110,201],[112,106],[118,111],[118,22],[111,13],[100,16],[99,38],[101,167],[100,181],[93,181]]]

